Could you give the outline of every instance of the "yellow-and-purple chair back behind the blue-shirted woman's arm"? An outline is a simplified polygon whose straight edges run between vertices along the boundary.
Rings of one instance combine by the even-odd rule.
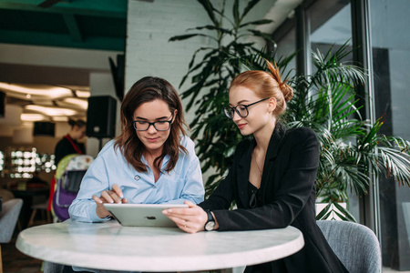
[[[87,155],[67,155],[56,168],[56,192],[53,195],[52,212],[60,221],[69,218],[68,207],[77,197],[79,187],[94,157]]]

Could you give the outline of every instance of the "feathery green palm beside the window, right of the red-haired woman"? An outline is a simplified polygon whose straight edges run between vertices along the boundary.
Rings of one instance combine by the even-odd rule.
[[[345,44],[334,53],[313,53],[316,72],[291,79],[296,90],[285,119],[288,126],[312,127],[321,143],[316,197],[328,205],[318,214],[324,219],[333,213],[354,221],[340,206],[347,192],[367,194],[371,174],[394,177],[410,186],[410,142],[396,136],[378,134],[383,116],[373,124],[360,116],[354,86],[364,84],[364,71],[341,63],[351,53]]]

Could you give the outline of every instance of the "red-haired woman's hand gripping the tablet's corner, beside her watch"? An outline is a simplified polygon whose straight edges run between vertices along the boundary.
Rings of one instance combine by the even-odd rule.
[[[185,232],[196,233],[204,230],[208,221],[207,213],[190,201],[185,201],[188,208],[167,208],[162,211],[169,219],[174,221],[177,226]]]

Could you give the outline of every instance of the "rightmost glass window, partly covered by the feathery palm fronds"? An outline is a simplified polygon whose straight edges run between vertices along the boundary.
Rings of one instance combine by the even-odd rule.
[[[410,2],[370,3],[375,117],[383,116],[381,133],[410,140]],[[410,187],[379,179],[383,265],[410,270]]]

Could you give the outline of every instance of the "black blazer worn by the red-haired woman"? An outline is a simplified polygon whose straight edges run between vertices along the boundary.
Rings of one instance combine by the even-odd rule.
[[[200,207],[210,209],[219,230],[281,228],[302,231],[305,246],[292,256],[271,262],[272,272],[347,272],[315,220],[315,184],[319,142],[312,129],[286,130],[278,123],[266,153],[261,177],[261,207],[248,196],[254,140],[242,141],[228,176]],[[229,210],[235,200],[237,209]],[[245,272],[251,272],[251,267]],[[262,269],[262,271],[267,271]],[[271,271],[271,269],[269,269]]]

